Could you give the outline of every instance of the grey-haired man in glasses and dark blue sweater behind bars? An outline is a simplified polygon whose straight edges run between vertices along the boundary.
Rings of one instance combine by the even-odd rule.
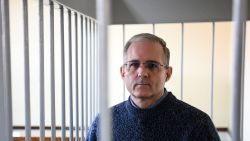
[[[170,52],[159,37],[142,33],[133,36],[123,51],[120,68],[130,97],[112,111],[115,141],[219,141],[209,116],[176,99],[164,88],[172,74]],[[87,140],[99,140],[99,116]]]

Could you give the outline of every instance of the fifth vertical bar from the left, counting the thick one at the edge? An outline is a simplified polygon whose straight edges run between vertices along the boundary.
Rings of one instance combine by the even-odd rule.
[[[60,23],[61,23],[61,90],[62,90],[62,141],[65,141],[66,131],[65,131],[65,54],[64,54],[64,8],[60,5]]]

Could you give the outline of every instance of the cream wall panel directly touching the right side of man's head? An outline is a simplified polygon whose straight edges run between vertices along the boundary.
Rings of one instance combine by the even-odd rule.
[[[155,35],[164,39],[170,50],[169,65],[172,66],[173,73],[165,86],[181,99],[182,24],[155,24]]]

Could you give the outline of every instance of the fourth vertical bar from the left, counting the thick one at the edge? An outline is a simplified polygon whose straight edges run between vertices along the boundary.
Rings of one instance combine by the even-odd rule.
[[[50,3],[50,73],[51,73],[51,140],[56,139],[56,110],[55,110],[55,60],[54,60],[54,3]]]

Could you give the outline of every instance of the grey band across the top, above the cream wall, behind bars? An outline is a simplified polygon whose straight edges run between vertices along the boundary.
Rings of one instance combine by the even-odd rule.
[[[96,0],[58,0],[96,17]],[[248,1],[248,0],[247,0]],[[111,0],[112,24],[228,21],[232,0]],[[248,2],[250,7],[250,2]],[[248,8],[250,13],[250,8]],[[248,14],[250,19],[250,14]]]

